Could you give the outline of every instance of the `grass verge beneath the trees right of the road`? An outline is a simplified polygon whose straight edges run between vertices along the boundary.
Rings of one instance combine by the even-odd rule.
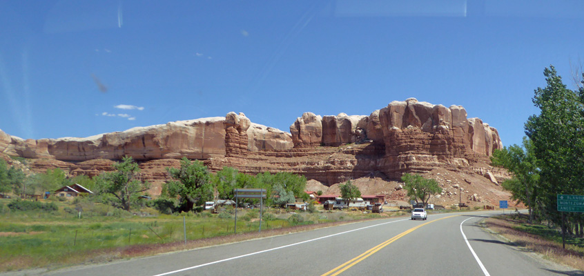
[[[485,226],[512,244],[539,253],[544,259],[584,270],[584,239],[568,237],[562,248],[562,235],[556,228],[528,224],[527,215],[500,215],[485,219]]]

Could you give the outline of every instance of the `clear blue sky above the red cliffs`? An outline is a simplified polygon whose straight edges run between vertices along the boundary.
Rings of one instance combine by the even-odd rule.
[[[409,97],[520,144],[550,64],[574,88],[584,1],[0,1],[0,129],[88,137],[244,112],[369,115]]]

